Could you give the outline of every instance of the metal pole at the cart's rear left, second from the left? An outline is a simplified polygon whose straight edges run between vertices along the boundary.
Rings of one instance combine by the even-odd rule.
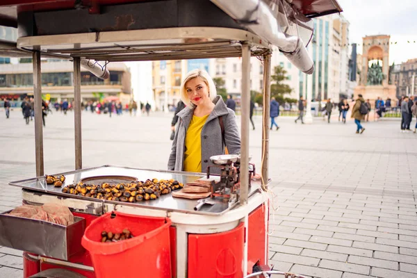
[[[83,147],[81,145],[81,59],[74,58],[74,131],[75,170],[83,167]]]

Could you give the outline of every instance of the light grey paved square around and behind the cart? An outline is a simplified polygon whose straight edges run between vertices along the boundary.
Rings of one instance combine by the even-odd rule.
[[[0,211],[21,203],[9,181],[35,176],[33,122],[0,115]],[[261,117],[250,152],[260,169]],[[83,113],[83,167],[165,169],[171,114]],[[310,277],[417,277],[417,134],[400,122],[295,124],[279,117],[270,133],[270,263]],[[44,129],[45,172],[74,169],[74,114],[54,113]],[[238,117],[240,123],[240,117]],[[412,125],[415,125],[413,120]],[[22,277],[22,252],[0,248],[0,277]]]

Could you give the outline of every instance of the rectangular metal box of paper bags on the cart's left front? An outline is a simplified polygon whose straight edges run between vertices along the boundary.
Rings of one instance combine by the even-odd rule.
[[[47,221],[0,214],[0,245],[67,261],[83,250],[85,219],[63,226]]]

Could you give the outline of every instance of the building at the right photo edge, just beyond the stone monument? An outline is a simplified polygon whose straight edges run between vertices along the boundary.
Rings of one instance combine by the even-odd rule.
[[[417,95],[417,58],[409,59],[400,65],[394,65],[390,81],[396,86],[396,96]]]

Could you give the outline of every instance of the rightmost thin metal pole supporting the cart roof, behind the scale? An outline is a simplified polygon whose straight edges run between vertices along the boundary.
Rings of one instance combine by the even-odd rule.
[[[268,187],[269,163],[269,118],[271,98],[271,54],[263,56],[263,113],[262,113],[262,157],[261,157],[261,183],[263,188]]]

